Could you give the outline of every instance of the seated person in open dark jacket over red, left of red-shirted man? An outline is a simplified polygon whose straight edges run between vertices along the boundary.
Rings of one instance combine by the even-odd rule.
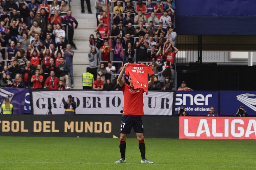
[[[26,66],[23,66],[23,69],[21,71],[24,84],[27,86],[29,89],[31,89],[31,76],[35,73],[34,69],[31,67],[31,61],[27,61]]]

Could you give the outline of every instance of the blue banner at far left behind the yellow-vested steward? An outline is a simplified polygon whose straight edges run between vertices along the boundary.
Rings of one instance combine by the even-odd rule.
[[[27,92],[28,89],[19,89],[13,87],[0,88],[0,106],[4,104],[5,98],[9,97],[10,103],[13,105],[13,114],[24,114],[25,95]]]

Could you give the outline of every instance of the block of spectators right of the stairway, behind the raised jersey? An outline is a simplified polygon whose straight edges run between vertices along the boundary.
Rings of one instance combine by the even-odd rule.
[[[129,62],[154,64],[153,71],[157,76],[150,90],[174,90],[175,55],[178,52],[173,25],[175,3],[172,0],[157,0],[154,3],[152,0],[117,0],[109,3],[97,0],[95,7],[98,26],[94,30],[96,37],[90,35],[91,50],[88,54],[89,72],[95,79],[91,88],[118,90],[115,86],[117,75],[122,65]],[[107,25],[108,20],[112,23],[111,30]],[[98,82],[96,77],[100,77],[102,82]],[[86,82],[84,78],[83,82]],[[101,83],[99,88],[97,83]]]

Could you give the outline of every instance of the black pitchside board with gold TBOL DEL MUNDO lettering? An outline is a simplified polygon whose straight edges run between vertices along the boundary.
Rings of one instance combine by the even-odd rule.
[[[120,137],[122,115],[1,115],[0,136]],[[142,117],[146,138],[178,138],[179,118]],[[131,131],[129,137],[136,137]]]

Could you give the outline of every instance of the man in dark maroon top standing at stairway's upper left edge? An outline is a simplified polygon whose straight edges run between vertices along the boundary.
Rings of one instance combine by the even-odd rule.
[[[77,29],[78,22],[77,20],[71,16],[72,11],[68,11],[67,16],[63,18],[63,24],[66,24],[68,26],[68,42],[71,46],[77,50],[77,45],[73,42],[74,37],[74,30]],[[75,27],[74,27],[75,23]]]

